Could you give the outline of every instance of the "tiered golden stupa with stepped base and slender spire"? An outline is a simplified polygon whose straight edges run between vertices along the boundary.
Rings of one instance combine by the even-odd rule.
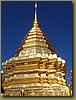
[[[6,74],[3,96],[69,96],[66,62],[43,33],[37,18],[15,55],[2,63]]]

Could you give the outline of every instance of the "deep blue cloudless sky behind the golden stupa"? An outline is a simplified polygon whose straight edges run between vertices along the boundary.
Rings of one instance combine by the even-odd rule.
[[[15,54],[24,36],[32,27],[34,2],[1,2],[1,10],[3,62]],[[38,20],[50,43],[60,57],[66,60],[66,75],[68,75],[72,69],[72,2],[39,1]]]

